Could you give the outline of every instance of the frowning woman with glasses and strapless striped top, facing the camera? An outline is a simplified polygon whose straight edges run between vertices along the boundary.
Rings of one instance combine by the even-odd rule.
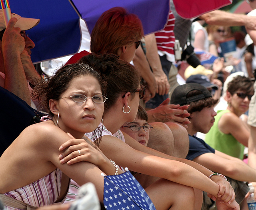
[[[0,157],[0,200],[6,209],[62,203],[70,187],[70,178],[80,185],[92,182],[100,201],[103,200],[101,173],[113,175],[112,162],[89,140],[88,162],[72,166],[61,164],[58,157],[62,152],[58,149],[71,138],[70,135],[77,139],[86,132],[99,132],[100,135],[98,125],[107,100],[105,85],[92,67],[72,64],[34,87],[33,97],[40,99],[49,116],[48,120],[44,117],[43,122],[24,129]],[[76,153],[81,155],[82,151],[76,150]]]

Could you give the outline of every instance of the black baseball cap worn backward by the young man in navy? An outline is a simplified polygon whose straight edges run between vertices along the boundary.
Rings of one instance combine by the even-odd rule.
[[[192,90],[198,90],[201,91],[202,93],[199,95],[194,95],[192,97],[188,97],[187,95],[190,91]],[[212,97],[212,94],[206,87],[198,84],[198,83],[187,83],[184,85],[180,85],[176,87],[172,93],[171,96],[171,104],[179,104],[181,106],[189,104],[192,101],[198,101],[201,99],[205,99],[208,97]]]

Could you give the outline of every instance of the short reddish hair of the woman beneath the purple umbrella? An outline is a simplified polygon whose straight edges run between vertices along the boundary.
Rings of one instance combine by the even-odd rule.
[[[140,19],[122,7],[114,7],[104,12],[96,22],[91,34],[91,51],[117,54],[120,47],[131,45],[142,36]]]

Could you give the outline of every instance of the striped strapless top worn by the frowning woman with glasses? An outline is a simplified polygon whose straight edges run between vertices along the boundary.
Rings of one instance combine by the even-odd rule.
[[[62,172],[56,169],[50,174],[28,184],[24,187],[4,193],[5,195],[20,200],[30,206],[40,207],[54,204],[60,195],[60,182]],[[63,203],[65,198],[63,199]],[[19,210],[6,206],[7,210]]]

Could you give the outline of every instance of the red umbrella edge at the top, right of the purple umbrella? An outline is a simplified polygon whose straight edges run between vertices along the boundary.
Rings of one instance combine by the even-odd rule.
[[[232,4],[232,0],[173,0],[173,3],[182,18],[191,19]]]

